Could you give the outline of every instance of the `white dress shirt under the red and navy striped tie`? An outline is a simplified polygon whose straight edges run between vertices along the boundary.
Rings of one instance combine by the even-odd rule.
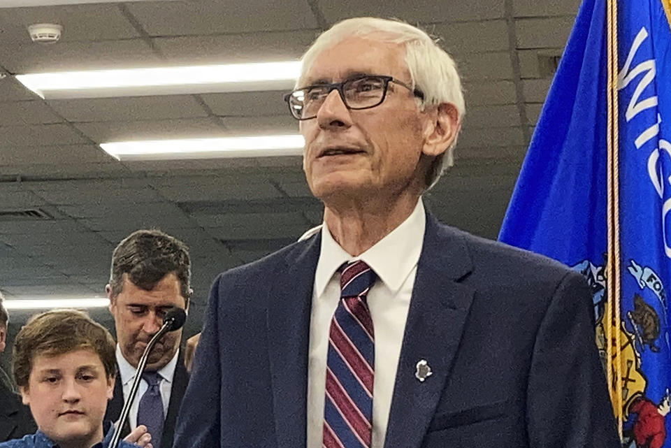
[[[405,320],[425,227],[424,204],[419,199],[412,214],[401,225],[356,257],[347,254],[333,240],[326,224],[322,227],[322,251],[317,262],[310,314],[308,448],[322,447],[329,328],[340,300],[340,274],[337,270],[342,263],[356,259],[365,261],[379,277],[368,291],[367,301],[375,331],[372,448],[384,445]]]

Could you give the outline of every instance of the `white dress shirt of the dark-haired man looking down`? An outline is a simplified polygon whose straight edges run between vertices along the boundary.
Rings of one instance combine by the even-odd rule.
[[[163,415],[164,417],[168,415],[168,404],[170,404],[170,391],[173,386],[173,377],[175,376],[175,368],[177,367],[177,358],[180,354],[178,350],[173,356],[173,359],[170,360],[165,366],[157,370],[157,373],[161,376],[161,382],[159,383],[159,389],[161,390],[161,400],[163,400]],[[124,389],[124,403],[128,400],[129,393],[131,393],[131,386],[133,385],[133,380],[135,380],[136,368],[131,366],[131,364],[126,361],[124,355],[121,353],[121,348],[117,344],[117,366],[119,366],[119,375],[121,377],[121,384]],[[131,431],[133,431],[138,426],[138,407],[140,406],[140,399],[143,396],[143,393],[147,391],[147,382],[145,380],[140,380],[140,386],[138,386],[138,393],[133,400],[133,405],[131,405],[131,412],[128,416],[128,423],[131,426]]]

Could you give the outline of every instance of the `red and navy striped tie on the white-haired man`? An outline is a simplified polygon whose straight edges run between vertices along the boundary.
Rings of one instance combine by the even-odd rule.
[[[340,273],[326,359],[326,448],[370,448],[375,340],[366,294],[376,278],[363,261],[343,265]]]

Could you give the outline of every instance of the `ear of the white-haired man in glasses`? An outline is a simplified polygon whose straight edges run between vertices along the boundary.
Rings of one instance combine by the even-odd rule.
[[[447,150],[459,133],[461,123],[459,112],[452,103],[441,103],[426,111],[427,121],[424,127],[424,147],[422,152],[436,157]]]

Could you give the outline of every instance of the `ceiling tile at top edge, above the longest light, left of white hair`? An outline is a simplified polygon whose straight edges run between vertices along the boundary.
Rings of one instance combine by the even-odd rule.
[[[152,36],[222,34],[316,28],[308,2],[285,0],[269,8],[264,1],[171,1],[127,3],[127,7]]]

